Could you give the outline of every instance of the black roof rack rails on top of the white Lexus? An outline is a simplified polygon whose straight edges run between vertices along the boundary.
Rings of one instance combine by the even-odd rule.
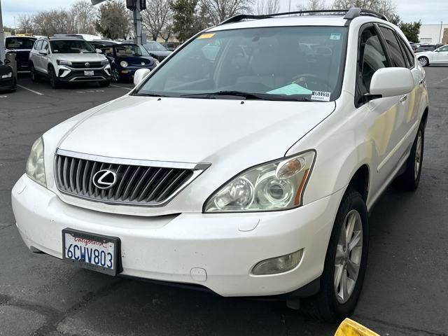
[[[260,20],[260,19],[268,19],[274,18],[276,16],[283,15],[291,15],[291,14],[318,14],[318,13],[326,13],[329,15],[344,15],[344,19],[353,20],[354,18],[358,18],[361,15],[373,16],[375,18],[379,18],[382,20],[388,21],[385,15],[381,13],[375,12],[374,10],[361,9],[361,8],[350,8],[350,9],[323,9],[323,10],[297,10],[295,12],[283,12],[283,13],[274,13],[274,14],[263,14],[263,15],[251,15],[251,14],[239,14],[232,16],[232,18],[228,18],[223,22],[219,23],[218,26],[225,25],[232,22],[239,22],[241,20]]]

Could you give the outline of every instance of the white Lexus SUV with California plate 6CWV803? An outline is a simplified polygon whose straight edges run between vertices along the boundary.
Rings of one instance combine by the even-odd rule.
[[[230,18],[45,132],[12,191],[25,244],[106,274],[351,314],[368,212],[391,182],[419,185],[428,92],[395,25],[331,12]]]

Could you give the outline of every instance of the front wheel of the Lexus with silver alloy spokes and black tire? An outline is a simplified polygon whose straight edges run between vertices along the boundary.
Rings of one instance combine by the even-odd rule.
[[[348,241],[351,244],[344,243],[347,241],[344,239],[346,235],[350,235]],[[305,315],[336,323],[353,313],[363,286],[368,247],[367,207],[360,193],[349,187],[339,205],[328,243],[321,275],[321,291],[302,300],[300,309]],[[339,284],[336,285],[336,282]],[[343,286],[343,283],[347,286]]]

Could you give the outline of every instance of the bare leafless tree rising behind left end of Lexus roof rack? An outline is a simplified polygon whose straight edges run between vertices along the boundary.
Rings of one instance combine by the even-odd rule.
[[[253,3],[253,0],[202,0],[212,25],[237,14],[251,13]]]

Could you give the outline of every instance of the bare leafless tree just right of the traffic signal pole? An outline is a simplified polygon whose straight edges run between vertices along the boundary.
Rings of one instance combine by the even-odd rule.
[[[143,25],[148,29],[153,40],[156,41],[162,30],[167,34],[167,26],[171,24],[172,10],[171,0],[149,0],[146,4],[146,10],[142,12]]]

